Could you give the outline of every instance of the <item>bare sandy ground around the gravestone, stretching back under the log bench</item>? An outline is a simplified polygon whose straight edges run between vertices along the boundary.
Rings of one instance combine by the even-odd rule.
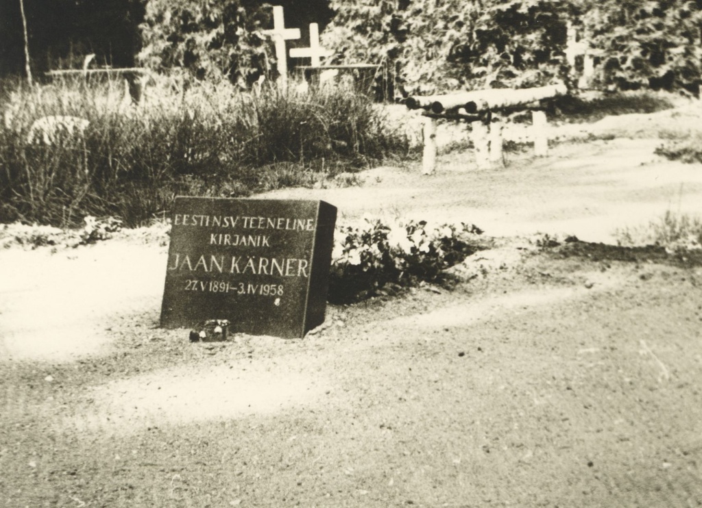
[[[496,238],[300,340],[159,329],[162,235],[0,252],[0,506],[702,506],[702,258],[585,243],[702,211],[645,134],[270,193]]]

